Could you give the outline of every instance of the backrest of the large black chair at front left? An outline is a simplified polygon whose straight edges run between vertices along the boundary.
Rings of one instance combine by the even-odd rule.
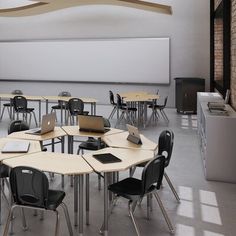
[[[18,166],[10,172],[10,185],[14,202],[47,209],[48,178],[37,169]]]

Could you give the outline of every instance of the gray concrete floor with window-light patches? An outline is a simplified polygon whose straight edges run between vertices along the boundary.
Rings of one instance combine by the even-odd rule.
[[[110,106],[97,106],[97,114],[108,116]],[[175,109],[166,109],[170,119],[166,124],[162,119],[155,125],[140,132],[149,139],[157,142],[158,136],[165,128],[174,131],[174,149],[171,163],[167,169],[169,177],[176,187],[181,203],[178,204],[169,187],[164,182],[164,188],[159,191],[163,204],[175,226],[175,235],[178,236],[235,236],[234,226],[236,223],[236,185],[229,183],[206,181],[203,173],[203,165],[197,139],[197,120],[195,115],[180,115]],[[150,114],[149,114],[150,115]],[[58,116],[59,117],[59,116]],[[114,125],[115,119],[112,120]],[[7,114],[0,122],[0,136],[7,135],[9,120]],[[124,126],[121,125],[121,128]],[[75,145],[77,146],[77,145]],[[75,147],[77,148],[77,147]],[[58,148],[59,151],[59,148]],[[224,157],[222,157],[224,158]],[[139,177],[141,169],[135,172]],[[120,178],[128,176],[128,172],[120,173]],[[98,191],[97,176],[90,178],[90,225],[84,225],[84,235],[99,235],[99,228],[103,221],[103,191]],[[60,189],[60,176],[56,176],[51,187]],[[64,188],[66,192],[65,202],[69,207],[71,221],[73,223],[73,188],[70,187],[69,178],[66,178]],[[153,211],[151,220],[146,219],[146,200],[137,207],[135,217],[139,225],[141,235],[170,235],[160,209],[153,199]],[[4,223],[7,216],[7,206],[3,201],[2,235]],[[60,213],[62,211],[60,210]],[[33,216],[33,212],[26,212],[28,231],[21,228],[21,217],[16,212],[14,219],[14,233],[17,236],[42,236],[53,235],[55,216],[51,212],[45,214],[45,219],[40,221],[39,217]],[[78,228],[73,227],[74,235],[78,235]],[[61,214],[60,235],[68,235],[63,214]],[[128,216],[127,201],[120,199],[109,219],[109,235],[136,235],[131,220]]]

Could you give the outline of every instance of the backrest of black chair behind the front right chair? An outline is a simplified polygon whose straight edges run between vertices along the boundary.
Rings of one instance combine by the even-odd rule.
[[[172,130],[164,130],[158,139],[158,155],[165,156],[165,167],[170,163],[174,145],[174,133]]]

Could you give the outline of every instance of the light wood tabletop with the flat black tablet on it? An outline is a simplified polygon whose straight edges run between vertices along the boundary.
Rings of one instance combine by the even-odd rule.
[[[111,153],[121,159],[121,162],[103,164],[96,160],[93,155],[101,153]],[[127,148],[103,148],[93,153],[86,153],[83,158],[92,166],[97,172],[115,172],[127,170],[130,167],[139,163],[149,161],[154,157],[153,151],[127,149]]]

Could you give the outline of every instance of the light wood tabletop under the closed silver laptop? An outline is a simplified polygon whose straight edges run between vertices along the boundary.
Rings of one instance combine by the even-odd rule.
[[[8,142],[11,142],[12,139],[10,138],[0,138],[0,161],[3,161],[5,159],[14,158],[22,155],[29,155],[30,153],[34,152],[41,152],[41,146],[40,143],[37,141],[30,141],[29,150],[27,153],[2,153],[1,150],[4,147],[4,145]],[[22,142],[22,140],[15,139],[14,142]]]

